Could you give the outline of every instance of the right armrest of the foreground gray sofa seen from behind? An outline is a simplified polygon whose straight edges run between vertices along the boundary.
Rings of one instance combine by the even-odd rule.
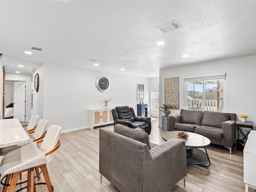
[[[143,165],[142,191],[167,191],[186,176],[186,146],[183,140],[172,138],[152,148],[150,154],[152,159]],[[152,182],[152,178],[157,178],[158,182]]]

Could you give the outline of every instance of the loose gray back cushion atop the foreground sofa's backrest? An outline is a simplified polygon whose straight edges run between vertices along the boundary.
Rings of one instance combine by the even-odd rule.
[[[132,129],[121,124],[116,124],[114,126],[114,132],[132,138],[136,141],[145,143],[148,145],[148,148],[151,149],[148,134],[144,131]]]

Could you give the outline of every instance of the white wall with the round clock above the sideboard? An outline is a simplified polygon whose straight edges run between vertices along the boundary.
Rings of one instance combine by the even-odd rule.
[[[88,109],[102,108],[105,98],[113,98],[109,107],[128,105],[137,114],[137,83],[144,84],[144,103],[149,102],[148,78],[48,63],[36,69],[33,76],[36,72],[40,85],[38,93],[33,94],[33,114],[35,111],[40,118],[48,120],[48,127],[62,126],[62,132],[88,128]],[[106,93],[96,89],[95,80],[100,75],[109,78],[110,89]]]

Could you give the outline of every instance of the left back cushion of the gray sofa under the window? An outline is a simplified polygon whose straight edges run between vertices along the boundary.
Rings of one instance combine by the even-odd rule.
[[[195,111],[195,110],[181,110],[180,114],[182,114],[181,122],[182,123],[191,123],[201,125],[203,112]]]

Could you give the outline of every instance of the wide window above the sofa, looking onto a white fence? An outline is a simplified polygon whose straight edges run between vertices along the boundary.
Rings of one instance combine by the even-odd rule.
[[[187,109],[224,112],[225,79],[225,74],[184,79]]]

